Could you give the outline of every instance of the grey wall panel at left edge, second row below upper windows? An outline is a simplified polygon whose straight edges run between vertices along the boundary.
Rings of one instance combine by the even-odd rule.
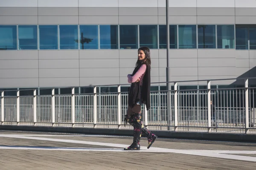
[[[37,59],[13,59],[13,60],[0,60],[1,69],[27,69],[38,68]]]

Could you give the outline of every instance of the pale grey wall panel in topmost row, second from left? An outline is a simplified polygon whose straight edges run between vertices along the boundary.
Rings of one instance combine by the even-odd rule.
[[[38,7],[78,7],[78,0],[38,0]]]

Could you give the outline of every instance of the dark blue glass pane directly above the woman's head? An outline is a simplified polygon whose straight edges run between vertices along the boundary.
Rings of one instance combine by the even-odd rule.
[[[140,26],[140,47],[158,48],[157,26]]]

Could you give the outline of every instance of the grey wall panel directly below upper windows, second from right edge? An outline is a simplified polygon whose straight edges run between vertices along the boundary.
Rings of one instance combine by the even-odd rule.
[[[198,49],[198,58],[236,58],[235,49]]]

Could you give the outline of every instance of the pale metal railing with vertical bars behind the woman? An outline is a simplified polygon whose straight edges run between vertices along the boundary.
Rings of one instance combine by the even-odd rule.
[[[201,80],[207,82],[205,89],[188,90],[179,90],[181,82],[172,82],[172,91],[151,91],[150,110],[142,107],[143,124],[152,130],[256,133],[256,91],[248,86],[251,79],[244,79],[240,88],[215,89],[211,88],[215,80]],[[22,90],[16,96],[5,96],[2,91],[1,123],[129,129],[123,126],[128,92],[121,92],[121,86],[116,85],[116,93],[96,92],[98,86],[91,94],[75,94],[75,87],[71,94],[55,94],[55,88],[51,95],[38,95],[38,89],[31,89],[30,96],[20,96]]]

